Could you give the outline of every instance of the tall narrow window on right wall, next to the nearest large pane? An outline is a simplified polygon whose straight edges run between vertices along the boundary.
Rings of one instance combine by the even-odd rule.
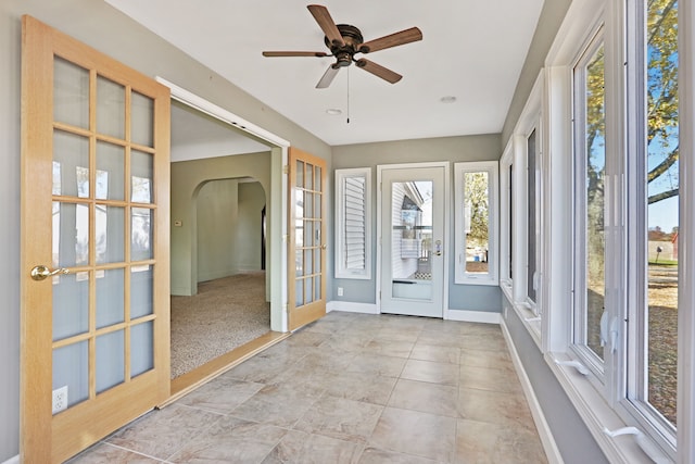
[[[603,381],[604,347],[614,319],[606,308],[606,102],[603,35],[572,70],[574,90],[573,344]],[[614,327],[615,328],[615,327]],[[615,333],[615,330],[612,330]]]

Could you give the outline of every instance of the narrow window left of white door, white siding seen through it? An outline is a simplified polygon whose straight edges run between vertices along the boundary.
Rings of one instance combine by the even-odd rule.
[[[336,278],[371,278],[371,170],[336,170]]]

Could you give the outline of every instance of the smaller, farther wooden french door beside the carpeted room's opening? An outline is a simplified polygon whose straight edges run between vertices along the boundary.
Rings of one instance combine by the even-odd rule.
[[[289,328],[326,315],[326,161],[289,151]]]

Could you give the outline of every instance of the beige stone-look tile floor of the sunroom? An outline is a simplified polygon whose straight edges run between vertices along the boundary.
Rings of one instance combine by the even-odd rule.
[[[500,327],[331,312],[71,461],[546,463]]]

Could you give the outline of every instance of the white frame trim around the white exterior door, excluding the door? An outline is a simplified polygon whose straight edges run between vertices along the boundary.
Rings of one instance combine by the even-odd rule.
[[[451,173],[450,173],[450,164],[446,161],[440,162],[428,162],[428,163],[403,163],[403,164],[380,164],[377,165],[377,256],[381,256],[382,252],[382,240],[381,240],[381,195],[382,195],[382,185],[381,177],[382,173],[386,170],[404,170],[404,168],[420,168],[420,167],[443,167],[444,168],[444,253],[442,255],[443,265],[444,265],[444,274],[442,281],[442,316],[444,319],[448,318],[448,256],[451,255],[451,250],[454,250],[451,234],[450,234],[450,211],[451,211]],[[375,296],[377,302],[377,309],[379,313],[381,313],[381,260],[377,259],[377,294]]]

